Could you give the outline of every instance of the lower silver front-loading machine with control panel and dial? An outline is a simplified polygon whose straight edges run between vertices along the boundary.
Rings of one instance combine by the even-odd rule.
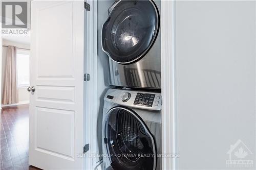
[[[109,89],[102,149],[103,169],[161,169],[161,93]]]

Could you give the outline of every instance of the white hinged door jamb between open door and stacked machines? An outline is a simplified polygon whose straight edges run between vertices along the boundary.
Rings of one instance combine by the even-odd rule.
[[[97,152],[97,1],[86,1],[90,11],[84,11],[84,73],[90,81],[84,82],[84,143],[90,144],[84,169],[95,169]]]

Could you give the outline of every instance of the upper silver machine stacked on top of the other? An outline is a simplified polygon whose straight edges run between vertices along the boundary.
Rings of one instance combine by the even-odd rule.
[[[160,1],[117,1],[102,26],[110,85],[161,89]]]

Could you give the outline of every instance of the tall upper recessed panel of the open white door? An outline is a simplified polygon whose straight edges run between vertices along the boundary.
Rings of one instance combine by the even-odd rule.
[[[38,77],[73,77],[72,5],[68,2],[38,9]]]

